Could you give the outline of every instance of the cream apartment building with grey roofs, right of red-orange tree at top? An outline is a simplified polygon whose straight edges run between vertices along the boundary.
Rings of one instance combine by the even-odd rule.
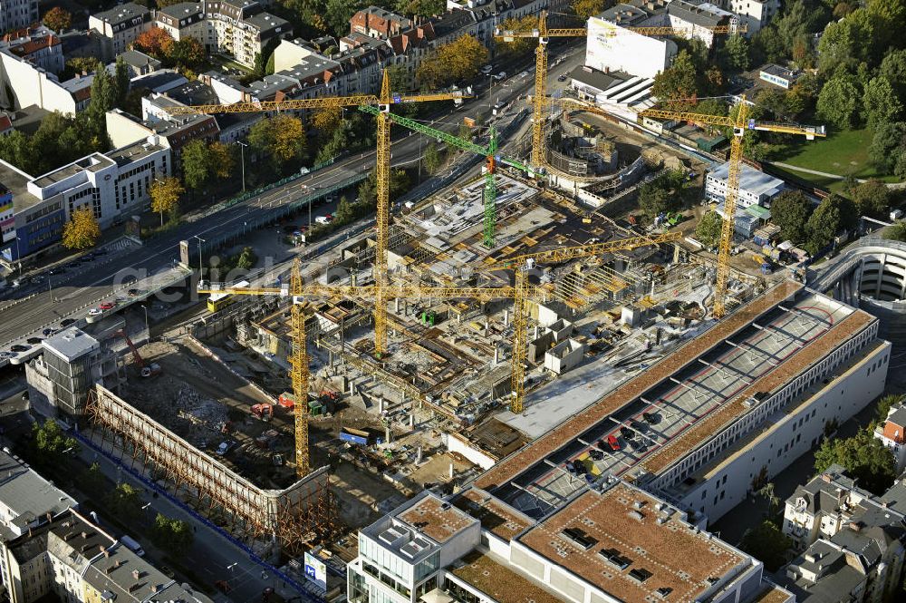
[[[183,2],[160,8],[155,24],[175,40],[191,36],[209,53],[228,53],[236,62],[255,66],[255,56],[293,34],[288,21],[266,13],[255,0]]]

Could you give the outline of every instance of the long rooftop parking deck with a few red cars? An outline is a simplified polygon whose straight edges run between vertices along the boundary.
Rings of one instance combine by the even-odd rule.
[[[586,481],[631,472],[848,313],[811,296],[793,311],[775,310],[758,323],[761,328],[748,327],[735,345],[718,346],[698,365],[661,382],[526,472],[506,500],[526,513],[544,514]]]

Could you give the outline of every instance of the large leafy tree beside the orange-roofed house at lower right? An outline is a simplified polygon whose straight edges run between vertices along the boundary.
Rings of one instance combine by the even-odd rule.
[[[881,440],[868,429],[851,438],[824,438],[814,452],[814,471],[822,473],[838,464],[863,488],[882,494],[896,478],[896,461]]]

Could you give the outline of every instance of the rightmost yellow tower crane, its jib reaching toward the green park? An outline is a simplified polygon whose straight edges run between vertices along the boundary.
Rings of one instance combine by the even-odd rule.
[[[724,219],[720,228],[720,244],[718,247],[718,274],[714,287],[713,316],[720,318],[727,313],[726,296],[727,281],[730,273],[730,248],[733,246],[733,229],[736,221],[736,202],[739,196],[739,173],[742,170],[742,140],[747,130],[776,131],[785,134],[799,134],[806,140],[814,140],[815,136],[824,136],[824,126],[805,126],[795,123],[757,122],[748,118],[749,107],[746,97],[742,96],[738,103],[737,116],[706,115],[704,113],[665,111],[661,109],[645,109],[639,112],[641,117],[655,119],[675,120],[680,122],[708,123],[710,125],[724,126],[733,129],[730,141],[730,159],[728,162],[727,195],[724,198]]]

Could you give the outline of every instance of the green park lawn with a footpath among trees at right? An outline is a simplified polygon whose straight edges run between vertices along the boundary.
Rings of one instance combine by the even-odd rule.
[[[878,178],[886,182],[897,182],[893,176],[885,176],[872,166],[868,160],[868,147],[872,144],[874,132],[871,128],[860,130],[834,131],[827,138],[816,138],[806,141],[805,138],[795,137],[790,141],[785,150],[772,158],[808,170],[824,171],[829,174],[847,176],[852,174],[855,178]],[[824,180],[814,174],[795,171],[796,176],[805,180]],[[821,184],[824,186],[824,184]]]

